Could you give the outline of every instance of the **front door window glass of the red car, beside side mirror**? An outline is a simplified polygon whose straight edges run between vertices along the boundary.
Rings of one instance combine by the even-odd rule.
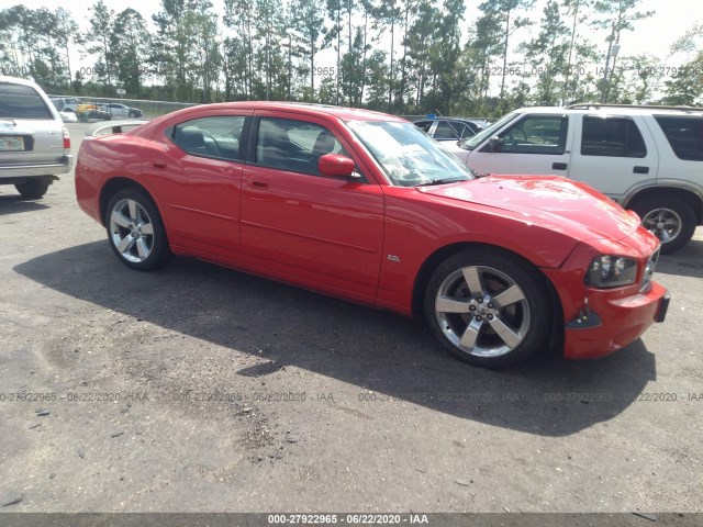
[[[256,143],[256,162],[265,167],[319,175],[317,159],[346,152],[323,126],[290,119],[261,117]]]

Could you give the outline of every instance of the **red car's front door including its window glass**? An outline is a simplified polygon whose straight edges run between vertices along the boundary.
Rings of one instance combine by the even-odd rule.
[[[321,155],[354,158],[324,121],[267,111],[253,128],[242,189],[245,260],[316,289],[375,299],[383,242],[381,187],[365,178],[320,176]],[[321,141],[325,136],[334,141]]]

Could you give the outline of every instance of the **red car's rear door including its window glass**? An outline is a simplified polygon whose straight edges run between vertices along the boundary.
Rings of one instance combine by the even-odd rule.
[[[227,259],[239,258],[239,201],[250,117],[211,115],[175,124],[166,149],[145,164],[165,204],[169,242]]]

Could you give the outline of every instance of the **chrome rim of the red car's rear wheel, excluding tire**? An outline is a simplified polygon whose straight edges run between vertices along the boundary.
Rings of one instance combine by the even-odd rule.
[[[141,264],[154,247],[152,218],[135,200],[120,200],[110,213],[110,238],[125,260]]]

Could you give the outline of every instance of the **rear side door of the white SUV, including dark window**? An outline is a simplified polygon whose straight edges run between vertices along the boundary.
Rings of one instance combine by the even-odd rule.
[[[658,153],[638,115],[576,115],[569,178],[618,199],[634,187],[655,184]]]

